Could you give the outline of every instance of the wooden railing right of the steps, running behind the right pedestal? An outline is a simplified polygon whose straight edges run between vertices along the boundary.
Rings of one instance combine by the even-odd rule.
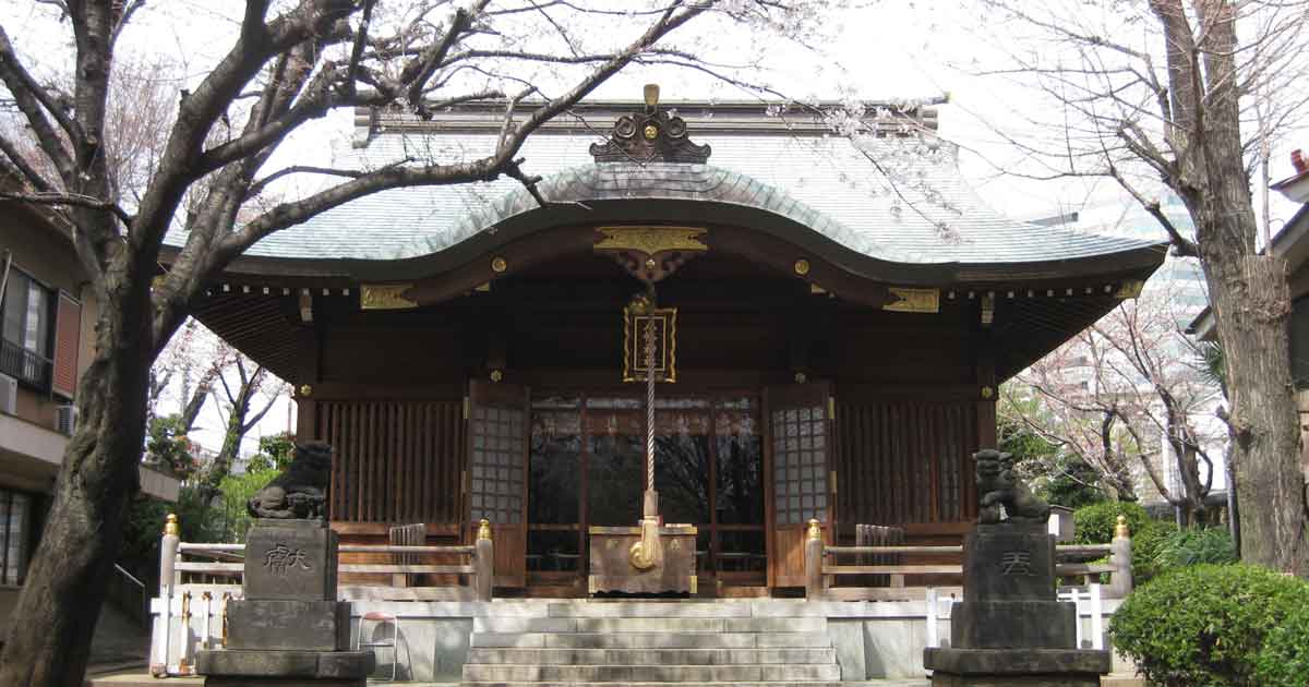
[[[840,556],[856,555],[898,555],[898,556],[959,556],[962,546],[829,546],[822,540],[818,521],[810,521],[809,537],[805,540],[805,598],[821,601],[908,601],[923,599],[927,586],[906,586],[906,576],[954,576],[962,578],[962,563],[923,563],[923,564],[881,564],[881,565],[840,565]],[[1071,557],[1103,557],[1109,563],[1072,563]],[[1064,563],[1059,563],[1064,560]],[[1123,598],[1132,590],[1132,542],[1123,518],[1119,518],[1113,543],[1109,544],[1060,544],[1055,547],[1055,576],[1084,577],[1093,582],[1102,573],[1110,574],[1105,588],[1106,597]],[[891,586],[861,588],[836,586],[842,576],[884,574],[891,580]],[[940,589],[940,585],[932,585]],[[958,589],[958,588],[945,588]]]

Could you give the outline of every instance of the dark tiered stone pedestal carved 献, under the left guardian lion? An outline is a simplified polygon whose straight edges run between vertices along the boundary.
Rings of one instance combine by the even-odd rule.
[[[225,649],[195,657],[207,687],[364,687],[373,653],[348,650],[350,603],[336,601],[336,533],[325,522],[257,521],[242,590],[228,603]]]

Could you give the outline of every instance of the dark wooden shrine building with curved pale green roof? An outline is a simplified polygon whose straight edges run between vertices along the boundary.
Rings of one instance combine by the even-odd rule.
[[[195,315],[334,446],[343,543],[470,542],[486,518],[497,594],[596,590],[589,537],[641,520],[651,425],[700,595],[801,586],[812,518],[829,542],[957,544],[997,386],[1135,297],[1166,246],[997,215],[933,109],[872,109],[853,140],[825,114],[583,103],[528,140],[533,186],[351,202],[260,241]],[[480,157],[501,116],[361,109],[334,166]]]

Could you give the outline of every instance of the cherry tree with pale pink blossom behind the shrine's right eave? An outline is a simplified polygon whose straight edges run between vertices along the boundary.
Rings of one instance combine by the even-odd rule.
[[[1175,289],[1152,281],[1024,370],[1000,412],[1096,468],[1119,499],[1138,500],[1145,482],[1185,521],[1204,522],[1227,445],[1223,390],[1182,331]]]

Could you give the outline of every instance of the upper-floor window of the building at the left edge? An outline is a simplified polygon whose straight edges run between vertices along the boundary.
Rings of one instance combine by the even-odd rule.
[[[9,271],[0,301],[0,373],[41,391],[50,389],[54,368],[54,293],[18,270]]]

